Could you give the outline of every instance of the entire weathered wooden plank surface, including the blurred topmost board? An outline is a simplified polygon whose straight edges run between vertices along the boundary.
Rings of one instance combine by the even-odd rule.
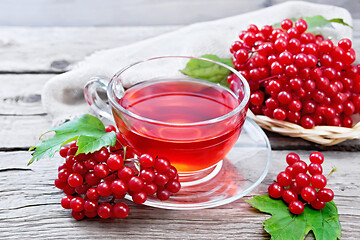
[[[41,87],[51,77],[100,49],[126,45],[195,22],[217,19],[281,0],[0,0],[0,240],[4,239],[269,239],[269,216],[243,199],[221,207],[172,211],[130,203],[126,219],[75,221],[60,206],[53,186],[60,158],[26,166],[27,149],[51,127],[41,105]],[[312,1],[343,6],[354,20],[360,49],[360,1]],[[96,9],[96,10],[94,10]],[[166,21],[165,21],[165,20]],[[80,27],[79,27],[80,26]],[[102,26],[102,27],[99,27]],[[359,55],[359,54],[358,54]],[[273,164],[252,192],[266,193],[284,169],[290,151],[326,156],[329,180],[343,228],[342,239],[360,236],[360,141],[320,147],[267,132]],[[307,239],[314,239],[309,235]]]

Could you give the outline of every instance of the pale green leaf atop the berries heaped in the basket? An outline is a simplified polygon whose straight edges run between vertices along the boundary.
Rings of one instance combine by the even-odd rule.
[[[316,33],[319,28],[324,28],[324,27],[333,28],[332,23],[339,23],[339,24],[351,27],[349,24],[344,22],[344,20],[341,18],[333,18],[333,19],[328,20],[321,15],[315,15],[315,16],[311,16],[311,17],[301,17],[301,18],[304,19],[308,25],[306,32],[311,32],[311,33]],[[297,20],[297,18],[290,18],[290,19],[293,22],[295,22]],[[275,23],[275,24],[273,24],[273,27],[280,28],[280,25],[281,25],[281,23]]]

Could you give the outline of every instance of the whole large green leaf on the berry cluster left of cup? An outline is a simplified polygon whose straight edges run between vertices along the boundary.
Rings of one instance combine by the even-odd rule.
[[[50,132],[55,132],[52,138],[43,140],[39,145],[29,149],[33,153],[28,165],[45,156],[53,157],[61,146],[71,141],[78,140],[77,146],[79,149],[76,155],[95,152],[103,146],[114,146],[116,142],[116,134],[107,133],[104,124],[98,118],[89,114],[84,114],[77,119],[51,129],[42,136]]]

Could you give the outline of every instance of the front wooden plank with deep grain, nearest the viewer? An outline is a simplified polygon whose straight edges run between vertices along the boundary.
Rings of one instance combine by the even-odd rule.
[[[298,151],[303,159],[309,151]],[[273,151],[269,174],[251,194],[266,193],[276,174],[285,168],[288,151]],[[342,239],[360,234],[358,153],[327,152],[324,172],[339,170],[329,179],[335,192]],[[268,239],[262,221],[269,215],[251,208],[244,199],[212,209],[174,211],[130,203],[131,214],[120,220],[75,221],[59,202],[53,186],[61,159],[42,159],[26,167],[28,152],[0,153],[0,238],[34,239]],[[246,197],[245,199],[249,198]],[[311,236],[307,239],[313,239]]]

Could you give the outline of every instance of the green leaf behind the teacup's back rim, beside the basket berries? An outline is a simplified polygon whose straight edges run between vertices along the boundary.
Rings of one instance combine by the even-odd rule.
[[[212,54],[203,55],[201,57],[224,63],[230,67],[234,67],[230,58],[219,58],[218,56]],[[183,70],[180,70],[180,72],[194,78],[220,83],[223,86],[229,87],[226,79],[230,75],[231,71],[212,62],[191,59],[186,64],[186,67]]]

